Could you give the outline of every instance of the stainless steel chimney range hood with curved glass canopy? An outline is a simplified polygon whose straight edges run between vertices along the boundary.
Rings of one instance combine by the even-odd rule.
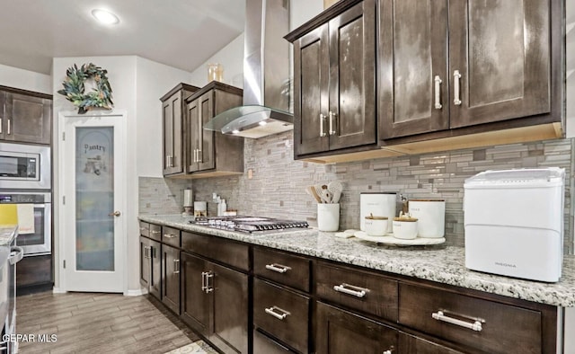
[[[243,106],[218,114],[204,129],[258,138],[294,128],[288,31],[288,0],[246,0]]]

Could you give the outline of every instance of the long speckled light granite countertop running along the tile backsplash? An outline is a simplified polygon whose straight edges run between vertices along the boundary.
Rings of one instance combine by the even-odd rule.
[[[216,235],[245,243],[259,244],[278,250],[296,252],[317,258],[353,264],[373,270],[384,270],[418,279],[462,288],[471,288],[492,294],[520,298],[536,303],[564,307],[575,306],[575,256],[564,256],[562,279],[557,283],[544,283],[491,275],[464,266],[464,248],[436,245],[395,247],[369,243],[358,238],[339,238],[333,233],[314,229],[247,235],[212,229],[189,223],[191,217],[180,215],[150,216],[139,219],[162,226],[207,235]]]

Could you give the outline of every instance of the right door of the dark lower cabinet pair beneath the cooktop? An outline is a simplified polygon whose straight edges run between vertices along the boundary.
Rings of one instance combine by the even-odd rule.
[[[212,335],[209,340],[224,352],[248,352],[248,276],[236,270],[208,262],[214,277],[208,281],[213,288],[211,308]],[[213,283],[212,283],[213,281]],[[230,348],[231,347],[231,348]],[[226,350],[229,348],[229,350]]]

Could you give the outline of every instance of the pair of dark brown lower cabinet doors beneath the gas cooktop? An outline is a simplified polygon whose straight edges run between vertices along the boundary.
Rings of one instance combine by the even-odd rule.
[[[248,275],[181,252],[181,318],[224,352],[248,352]]]

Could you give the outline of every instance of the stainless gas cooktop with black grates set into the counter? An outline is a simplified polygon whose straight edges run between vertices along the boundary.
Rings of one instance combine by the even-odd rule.
[[[306,221],[271,217],[195,217],[190,224],[239,231],[248,234],[296,231],[308,227]]]

